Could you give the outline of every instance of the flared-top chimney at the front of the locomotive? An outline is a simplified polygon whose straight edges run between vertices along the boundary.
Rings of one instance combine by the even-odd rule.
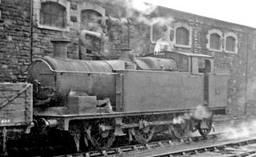
[[[68,59],[67,57],[67,45],[70,41],[67,38],[56,38],[51,40],[54,44],[54,57]]]

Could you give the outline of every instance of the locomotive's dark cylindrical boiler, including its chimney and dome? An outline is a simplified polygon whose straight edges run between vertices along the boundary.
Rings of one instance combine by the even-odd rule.
[[[114,72],[125,69],[178,69],[177,62],[170,59],[144,57],[135,60],[130,49],[123,49],[119,59],[113,61],[70,60],[66,54],[67,41],[53,42],[54,57],[37,59],[30,65],[28,81],[34,84],[35,105],[50,102],[64,105],[67,96],[74,93],[97,96],[97,100],[110,99],[115,104],[116,77],[120,74]]]

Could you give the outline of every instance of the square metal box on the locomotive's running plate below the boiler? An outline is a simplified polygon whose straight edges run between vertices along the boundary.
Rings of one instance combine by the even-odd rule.
[[[70,114],[96,113],[96,96],[69,96],[67,107]]]

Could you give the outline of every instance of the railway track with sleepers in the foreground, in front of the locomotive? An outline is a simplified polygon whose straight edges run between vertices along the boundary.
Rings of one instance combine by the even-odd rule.
[[[253,128],[250,128],[250,131]],[[238,133],[241,130],[238,129]],[[104,151],[88,151],[58,157],[99,157],[99,156],[126,156],[126,157],[171,157],[171,156],[256,156],[256,136],[244,139],[225,139],[223,135],[231,132],[218,132],[206,136],[194,136],[184,139],[170,139],[147,144],[113,147]]]

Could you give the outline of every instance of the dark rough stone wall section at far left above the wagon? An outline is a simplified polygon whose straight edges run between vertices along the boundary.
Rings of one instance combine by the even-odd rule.
[[[30,1],[0,3],[0,81],[25,81],[30,64]]]

